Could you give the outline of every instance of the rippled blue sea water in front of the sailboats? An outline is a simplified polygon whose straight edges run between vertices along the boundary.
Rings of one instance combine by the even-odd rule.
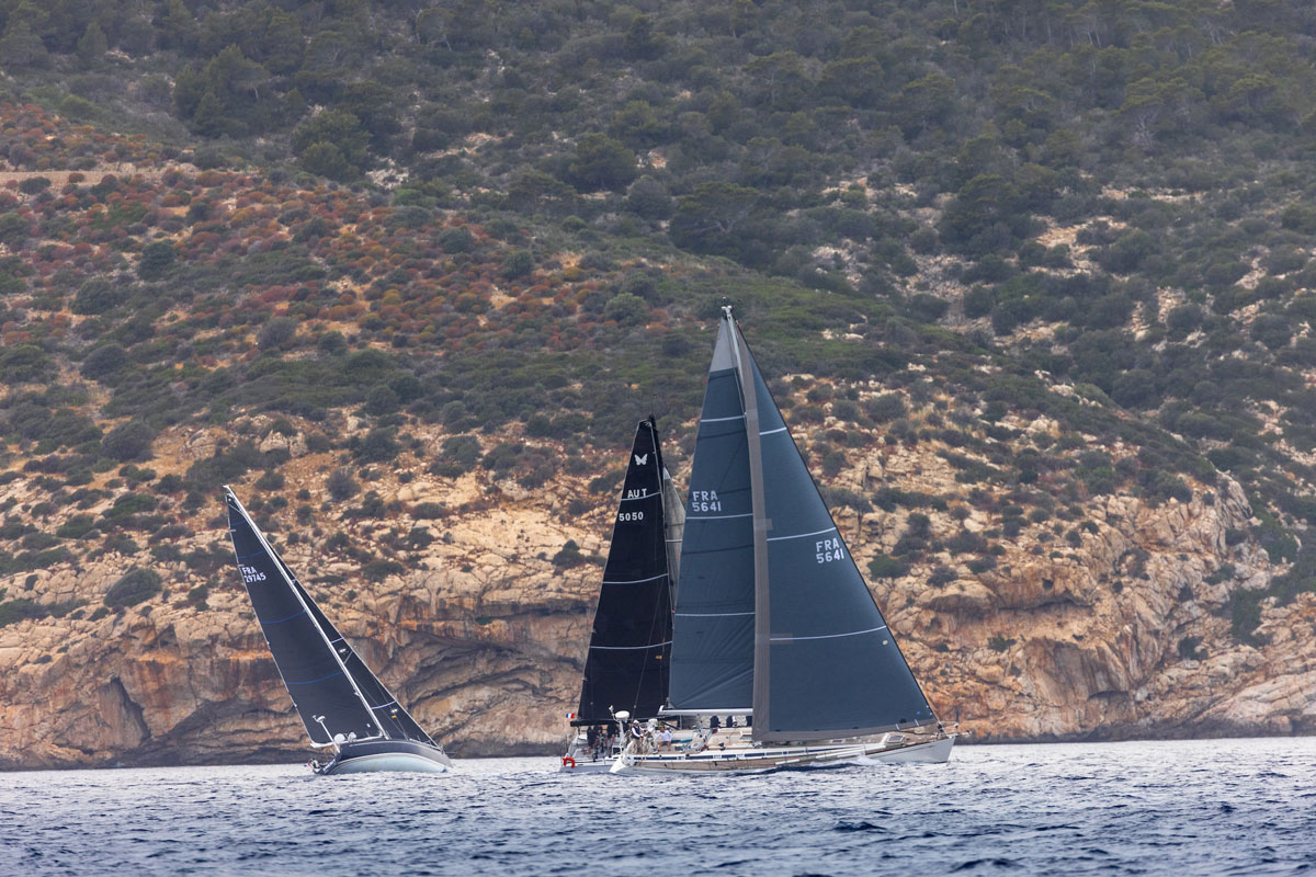
[[[963,746],[762,776],[301,765],[0,774],[0,874],[1284,874],[1316,738]]]

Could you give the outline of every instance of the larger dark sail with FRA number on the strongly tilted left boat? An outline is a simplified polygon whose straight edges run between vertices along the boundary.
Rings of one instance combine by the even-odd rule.
[[[321,746],[332,743],[336,734],[379,736],[378,723],[334,659],[316,618],[284,580],[280,561],[265,548],[232,494],[226,504],[238,572],[307,734]],[[317,715],[324,717],[324,724]]]

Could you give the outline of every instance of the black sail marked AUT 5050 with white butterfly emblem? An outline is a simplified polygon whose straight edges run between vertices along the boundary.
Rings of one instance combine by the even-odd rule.
[[[611,722],[609,709],[658,715],[667,698],[671,582],[662,508],[662,458],[647,421],[636,427],[612,546],[594,614],[576,722]]]

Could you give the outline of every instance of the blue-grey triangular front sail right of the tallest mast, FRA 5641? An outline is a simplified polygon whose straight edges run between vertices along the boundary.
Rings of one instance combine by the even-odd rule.
[[[936,722],[855,567],[749,350],[763,458],[772,742],[857,736]]]

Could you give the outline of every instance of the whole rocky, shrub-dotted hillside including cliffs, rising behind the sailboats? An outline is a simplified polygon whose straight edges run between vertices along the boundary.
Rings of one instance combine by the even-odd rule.
[[[86,51],[0,12],[0,763],[303,751],[225,483],[454,751],[557,748],[624,443],[657,413],[684,477],[724,300],[945,718],[1311,732],[1305,43],[1223,9],[979,22],[994,49],[909,4],[945,20],[765,54],[788,4],[678,5],[538,46],[426,20],[412,72],[453,75],[400,118],[329,37],[250,79],[232,4],[174,47],[172,12],[76,21]],[[663,62],[686,39],[730,66]],[[405,92],[384,42],[354,51]],[[844,87],[873,64],[896,99]],[[582,107],[611,134],[559,139]]]

